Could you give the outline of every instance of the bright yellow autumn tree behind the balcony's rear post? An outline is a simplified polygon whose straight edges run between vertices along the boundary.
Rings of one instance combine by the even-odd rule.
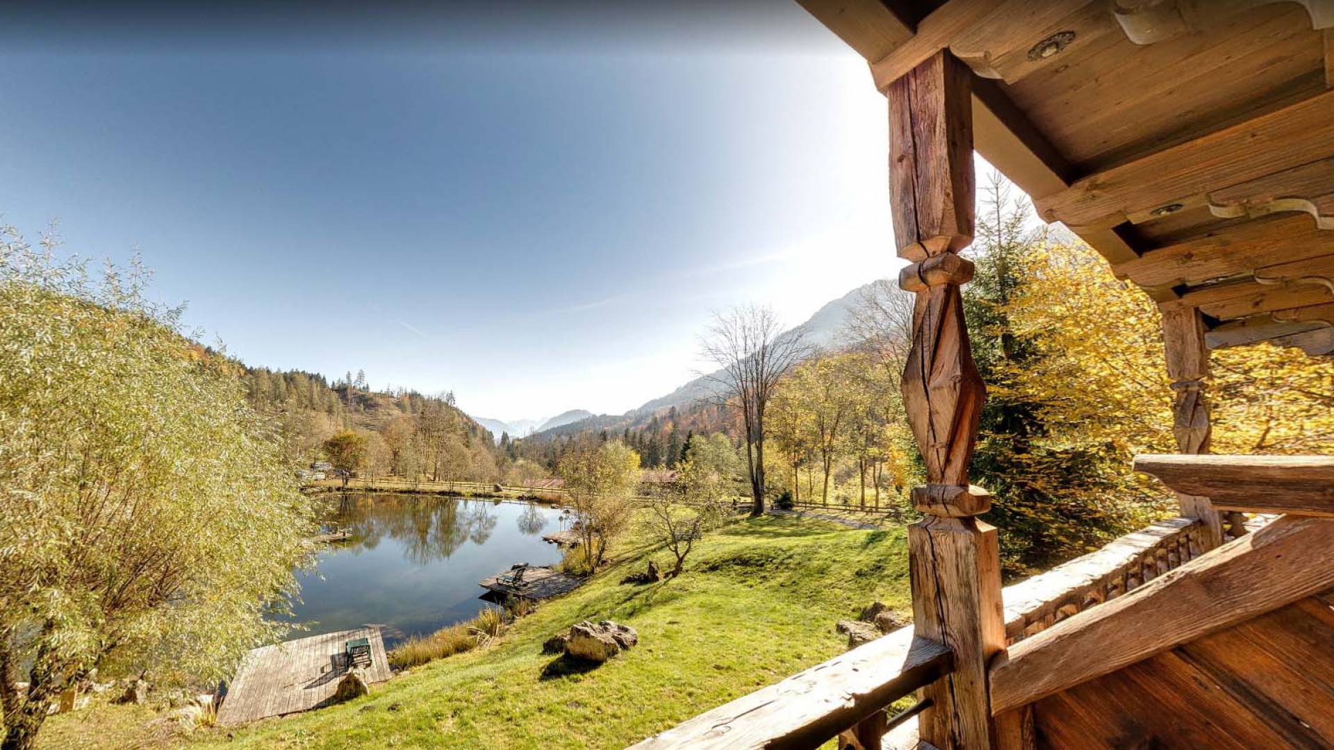
[[[1035,408],[1046,426],[1045,446],[1103,456],[1094,483],[1043,471],[1039,463],[1029,467],[1023,480],[1054,506],[1033,512],[1065,503],[1110,506],[1122,527],[1107,526],[1102,536],[1173,512],[1170,494],[1130,467],[1135,454],[1177,451],[1157,306],[1083,243],[1037,242],[1018,262],[1023,282],[1005,314],[1035,356],[1022,367],[1002,362],[988,383],[991,394]],[[1334,363],[1273,346],[1219,350],[1211,362],[1214,452],[1334,448]],[[1053,512],[1045,522],[1059,527],[1065,519]],[[1047,542],[1053,556],[1090,546],[1074,530]]]

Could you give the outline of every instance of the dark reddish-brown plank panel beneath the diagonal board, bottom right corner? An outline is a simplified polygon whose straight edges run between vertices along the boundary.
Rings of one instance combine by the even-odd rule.
[[[1329,747],[1334,614],[1310,597],[1031,706],[1053,747]]]

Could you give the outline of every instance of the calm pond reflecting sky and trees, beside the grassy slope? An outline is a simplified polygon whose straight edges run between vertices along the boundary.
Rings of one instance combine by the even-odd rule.
[[[384,626],[386,646],[475,617],[487,602],[478,582],[527,562],[560,560],[543,534],[559,508],[515,500],[346,492],[325,496],[323,520],[352,539],[324,544],[297,575],[292,621],[309,633]]]

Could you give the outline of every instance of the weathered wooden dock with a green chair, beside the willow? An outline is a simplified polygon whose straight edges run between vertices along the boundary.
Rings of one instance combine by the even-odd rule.
[[[327,705],[347,674],[344,645],[354,638],[371,642],[370,683],[390,679],[390,662],[380,629],[362,627],[261,646],[241,659],[236,679],[217,711],[217,722],[236,726],[265,717],[281,717]]]

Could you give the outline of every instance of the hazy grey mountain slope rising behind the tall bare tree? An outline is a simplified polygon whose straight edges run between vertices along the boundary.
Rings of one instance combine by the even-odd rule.
[[[868,294],[876,294],[876,287],[880,282],[871,282],[868,284],[862,284],[855,290],[847,292],[846,295],[824,303],[814,315],[806,319],[804,323],[790,328],[779,335],[779,338],[792,336],[798,331],[803,332],[806,343],[815,348],[830,350],[838,348],[843,343],[843,328],[848,320],[851,311],[858,306],[858,303]],[[720,372],[720,371],[719,371]],[[719,372],[712,372],[710,375],[703,375],[690,380],[684,386],[676,388],[675,391],[644,402],[638,408],[632,408],[626,414],[602,414],[594,416],[592,414],[584,412],[566,412],[582,414],[583,416],[576,416],[566,422],[558,423],[560,418],[551,418],[546,424],[532,431],[532,435],[539,439],[554,438],[559,435],[574,435],[584,431],[595,430],[610,430],[619,431],[626,427],[640,427],[648,423],[654,415],[660,414],[666,410],[676,407],[680,412],[696,411],[702,399],[708,396],[712,390],[710,387],[710,378],[716,376]],[[562,415],[562,416],[566,416]],[[486,420],[479,420],[486,424]],[[491,430],[495,432],[495,428]],[[514,432],[511,432],[514,435]]]

